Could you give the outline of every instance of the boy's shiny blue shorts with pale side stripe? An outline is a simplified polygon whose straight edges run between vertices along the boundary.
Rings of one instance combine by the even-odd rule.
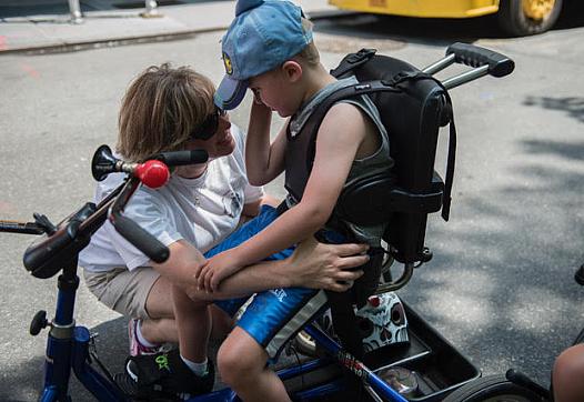
[[[274,208],[262,205],[260,214],[230,234],[220,244],[209,250],[204,255],[211,258],[221,251],[232,249],[262,231],[278,218]],[[270,255],[269,260],[283,260],[292,254],[293,249],[286,249]],[[215,304],[230,315],[249,300],[218,300]],[[302,328],[312,321],[326,304],[326,295],[322,290],[305,288],[272,289],[255,293],[236,325],[261,344],[271,359],[275,359],[284,344]]]

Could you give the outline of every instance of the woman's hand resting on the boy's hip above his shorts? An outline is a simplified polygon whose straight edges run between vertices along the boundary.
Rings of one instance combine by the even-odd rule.
[[[366,244],[324,244],[313,237],[302,241],[288,259],[286,275],[293,287],[344,292],[363,271],[352,271],[369,261]]]

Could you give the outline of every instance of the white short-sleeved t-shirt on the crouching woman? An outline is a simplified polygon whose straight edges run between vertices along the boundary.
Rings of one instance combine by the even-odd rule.
[[[231,125],[234,151],[209,162],[207,172],[197,179],[172,174],[167,185],[150,189],[141,185],[123,214],[164,245],[184,239],[201,252],[220,243],[236,227],[244,203],[258,201],[263,191],[248,182],[244,162],[244,133]],[[95,190],[95,203],[115,189],[124,173],[109,174]],[[81,251],[79,264],[93,272],[114,267],[148,265],[150,259],[122,238],[105,221]]]

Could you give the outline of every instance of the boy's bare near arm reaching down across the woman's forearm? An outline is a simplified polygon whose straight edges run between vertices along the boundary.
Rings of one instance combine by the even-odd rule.
[[[351,104],[326,113],[316,140],[314,164],[302,201],[239,247],[220,253],[203,268],[200,283],[214,290],[222,278],[312,235],[329,220],[365,137],[363,114]],[[221,271],[213,279],[213,271]]]

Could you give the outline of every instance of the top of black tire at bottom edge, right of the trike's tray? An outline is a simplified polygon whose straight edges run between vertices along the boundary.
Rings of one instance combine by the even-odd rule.
[[[443,402],[536,402],[544,401],[530,389],[509,381],[504,374],[487,375],[461,386]]]

